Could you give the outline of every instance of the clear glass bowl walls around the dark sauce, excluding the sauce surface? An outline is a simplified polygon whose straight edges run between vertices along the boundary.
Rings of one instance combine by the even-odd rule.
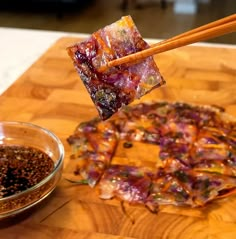
[[[64,147],[49,130],[24,122],[0,122],[0,145],[33,147],[46,153],[54,162],[52,172],[39,183],[0,198],[0,219],[3,219],[33,207],[55,189],[62,174]]]

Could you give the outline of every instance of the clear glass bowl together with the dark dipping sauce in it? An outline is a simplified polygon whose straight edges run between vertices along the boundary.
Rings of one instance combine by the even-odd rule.
[[[58,184],[64,147],[49,130],[24,122],[0,122],[0,219],[46,198]]]

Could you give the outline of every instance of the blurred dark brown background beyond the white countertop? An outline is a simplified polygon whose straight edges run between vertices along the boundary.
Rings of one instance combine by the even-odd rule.
[[[0,0],[0,27],[92,33],[129,14],[143,37],[164,39],[233,13],[236,0]]]

